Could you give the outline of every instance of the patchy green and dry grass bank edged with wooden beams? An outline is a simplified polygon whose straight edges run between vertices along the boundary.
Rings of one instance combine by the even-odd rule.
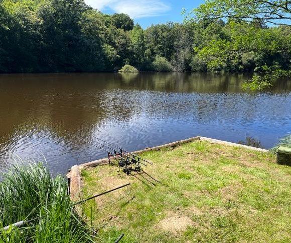
[[[82,171],[84,197],[131,183],[83,205],[100,242],[291,241],[291,168],[274,155],[194,141],[141,156],[148,174]]]

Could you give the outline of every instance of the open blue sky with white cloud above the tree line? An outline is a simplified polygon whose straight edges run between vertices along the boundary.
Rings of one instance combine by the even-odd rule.
[[[203,0],[85,0],[91,7],[106,14],[125,13],[135,23],[147,28],[152,24],[167,21],[182,22],[182,9],[188,12],[199,6]]]

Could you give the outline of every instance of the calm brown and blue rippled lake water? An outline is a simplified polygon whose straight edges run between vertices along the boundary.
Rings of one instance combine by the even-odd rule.
[[[249,74],[0,75],[0,166],[46,158],[53,172],[106,157],[91,139],[137,150],[197,135],[269,148],[291,131],[291,82],[246,93]]]

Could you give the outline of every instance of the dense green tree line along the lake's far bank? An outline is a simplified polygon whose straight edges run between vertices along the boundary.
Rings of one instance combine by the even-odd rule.
[[[290,60],[287,25],[205,18],[143,30],[83,0],[0,0],[2,73],[288,70]]]

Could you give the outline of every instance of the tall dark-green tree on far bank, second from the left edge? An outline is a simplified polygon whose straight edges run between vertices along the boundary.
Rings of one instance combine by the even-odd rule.
[[[82,35],[83,14],[88,10],[83,0],[51,0],[38,11],[42,21],[42,65],[55,72],[76,72],[82,68],[80,56],[86,45]]]

